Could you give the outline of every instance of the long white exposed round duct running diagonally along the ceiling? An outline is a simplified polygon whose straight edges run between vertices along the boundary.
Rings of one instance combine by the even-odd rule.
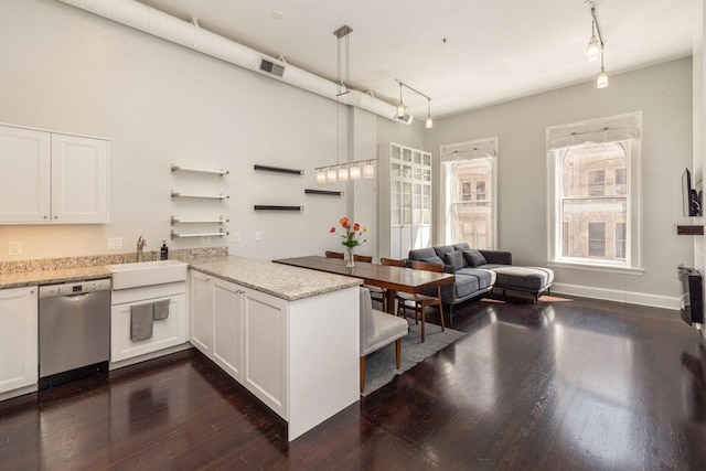
[[[339,86],[334,82],[314,75],[302,68],[286,64],[254,49],[223,38],[199,26],[199,22],[180,20],[136,0],[58,0],[108,20],[125,24],[148,34],[171,41],[184,47],[220,58],[231,64],[254,71],[286,84],[336,100]],[[278,67],[280,76],[263,72],[261,64],[269,62]],[[397,107],[368,94],[351,89],[339,97],[339,103],[355,106],[398,122],[409,124],[411,119],[397,119]]]

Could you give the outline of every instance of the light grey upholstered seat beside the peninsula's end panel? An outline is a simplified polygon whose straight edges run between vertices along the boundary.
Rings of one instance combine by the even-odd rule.
[[[361,287],[361,393],[365,388],[365,356],[395,342],[396,367],[402,360],[402,338],[409,327],[406,319],[373,309],[371,292]]]

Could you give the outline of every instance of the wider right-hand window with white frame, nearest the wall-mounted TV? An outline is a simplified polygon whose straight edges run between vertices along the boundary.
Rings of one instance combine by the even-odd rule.
[[[640,268],[641,115],[547,129],[553,263]]]

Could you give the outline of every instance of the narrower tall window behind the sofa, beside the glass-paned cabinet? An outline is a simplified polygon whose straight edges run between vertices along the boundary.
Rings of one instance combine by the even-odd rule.
[[[441,147],[445,238],[493,248],[495,139]]]

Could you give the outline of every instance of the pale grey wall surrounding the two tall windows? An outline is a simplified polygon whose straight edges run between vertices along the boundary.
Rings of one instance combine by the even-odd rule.
[[[677,223],[685,223],[681,175],[692,161],[691,57],[612,74],[610,86],[601,90],[592,82],[585,83],[437,119],[435,128],[426,133],[425,148],[439,156],[441,144],[498,136],[498,248],[511,250],[517,264],[545,266],[546,128],[632,111],[643,114],[644,274],[557,268],[556,280],[589,287],[598,297],[672,306],[680,292],[676,265],[693,259],[693,242],[677,236],[675,229]],[[435,184],[438,201],[438,181]],[[436,210],[440,223],[441,212]]]

